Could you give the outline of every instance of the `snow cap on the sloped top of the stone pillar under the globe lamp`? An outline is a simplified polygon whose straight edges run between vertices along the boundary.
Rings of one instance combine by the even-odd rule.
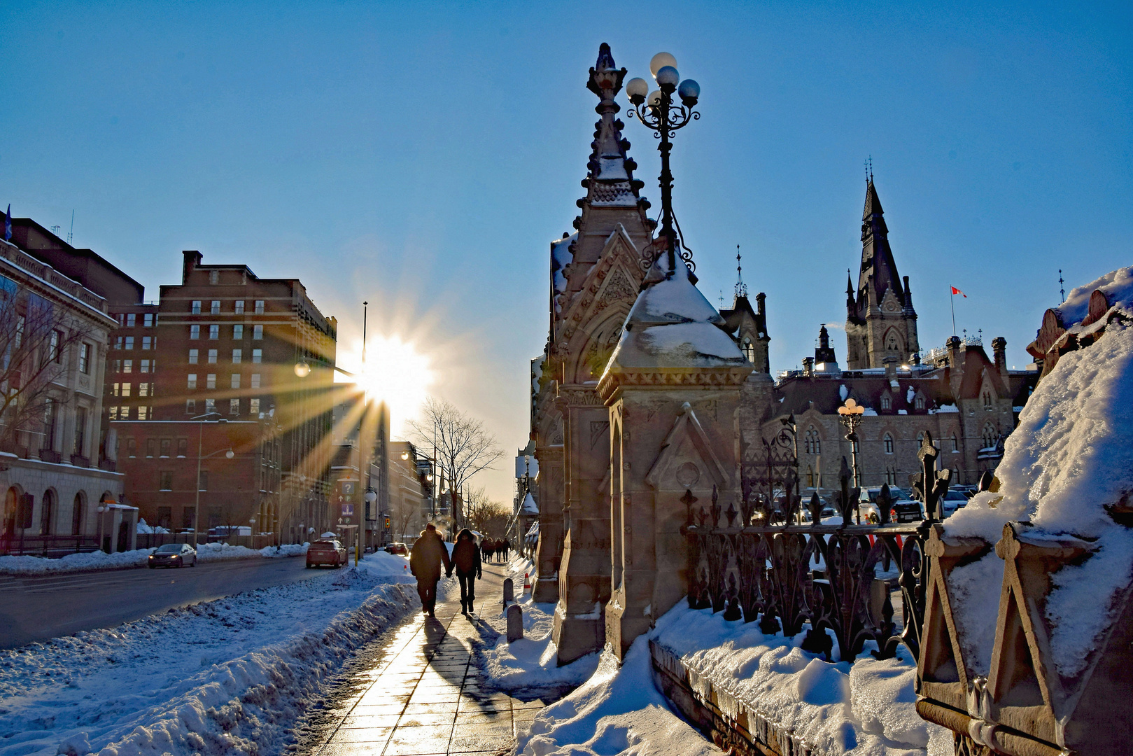
[[[654,272],[657,272],[656,265]],[[607,371],[621,367],[742,367],[747,358],[680,262],[638,295]]]

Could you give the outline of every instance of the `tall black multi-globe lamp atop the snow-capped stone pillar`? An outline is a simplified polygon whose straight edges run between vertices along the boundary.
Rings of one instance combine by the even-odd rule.
[[[659,138],[657,150],[661,152],[661,238],[664,240],[664,249],[659,249],[654,255],[654,261],[659,257],[661,252],[668,254],[668,274],[676,269],[676,255],[680,252],[681,260],[689,265],[690,270],[696,270],[692,263],[692,253],[684,247],[681,239],[681,248],[676,246],[680,224],[673,216],[673,173],[668,169],[668,153],[673,148],[672,137],[678,129],[682,129],[700,118],[693,108],[700,99],[700,85],[690,78],[680,82],[681,75],[676,71],[676,59],[667,52],[658,52],[649,61],[649,70],[657,82],[657,88],[650,94],[649,84],[644,78],[632,78],[625,84],[625,94],[629,95],[633,104],[629,110],[632,118],[637,114],[645,126],[653,129],[654,137]],[[680,84],[678,84],[680,82]],[[676,94],[681,102],[673,101]]]

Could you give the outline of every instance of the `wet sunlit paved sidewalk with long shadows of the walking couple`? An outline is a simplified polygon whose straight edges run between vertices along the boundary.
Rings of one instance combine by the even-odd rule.
[[[503,564],[485,564],[476,611],[502,605]],[[434,756],[511,753],[516,729],[543,708],[491,690],[472,661],[474,645],[495,630],[460,613],[460,594],[438,603],[436,618],[417,611],[368,669],[353,676],[353,694],[321,728],[312,756]],[[329,712],[330,714],[331,712]]]

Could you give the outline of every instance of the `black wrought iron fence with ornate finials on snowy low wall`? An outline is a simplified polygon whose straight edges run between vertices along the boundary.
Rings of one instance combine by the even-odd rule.
[[[928,519],[908,525],[889,523],[888,486],[878,502],[880,524],[852,524],[860,489],[851,487],[845,460],[834,496],[841,523],[823,523],[817,493],[804,512],[794,442],[791,418],[757,453],[744,450],[739,510],[735,502],[724,510],[715,490],[707,508],[695,508],[696,498],[685,494],[689,605],[723,612],[726,620],[758,620],[766,634],[806,629],[802,647],[830,661],[852,661],[870,642],[878,659],[892,657],[902,643],[918,656],[928,585],[925,542],[929,525],[942,517],[949,479],[948,470],[936,470],[931,439],[919,452],[922,472],[914,484]]]

